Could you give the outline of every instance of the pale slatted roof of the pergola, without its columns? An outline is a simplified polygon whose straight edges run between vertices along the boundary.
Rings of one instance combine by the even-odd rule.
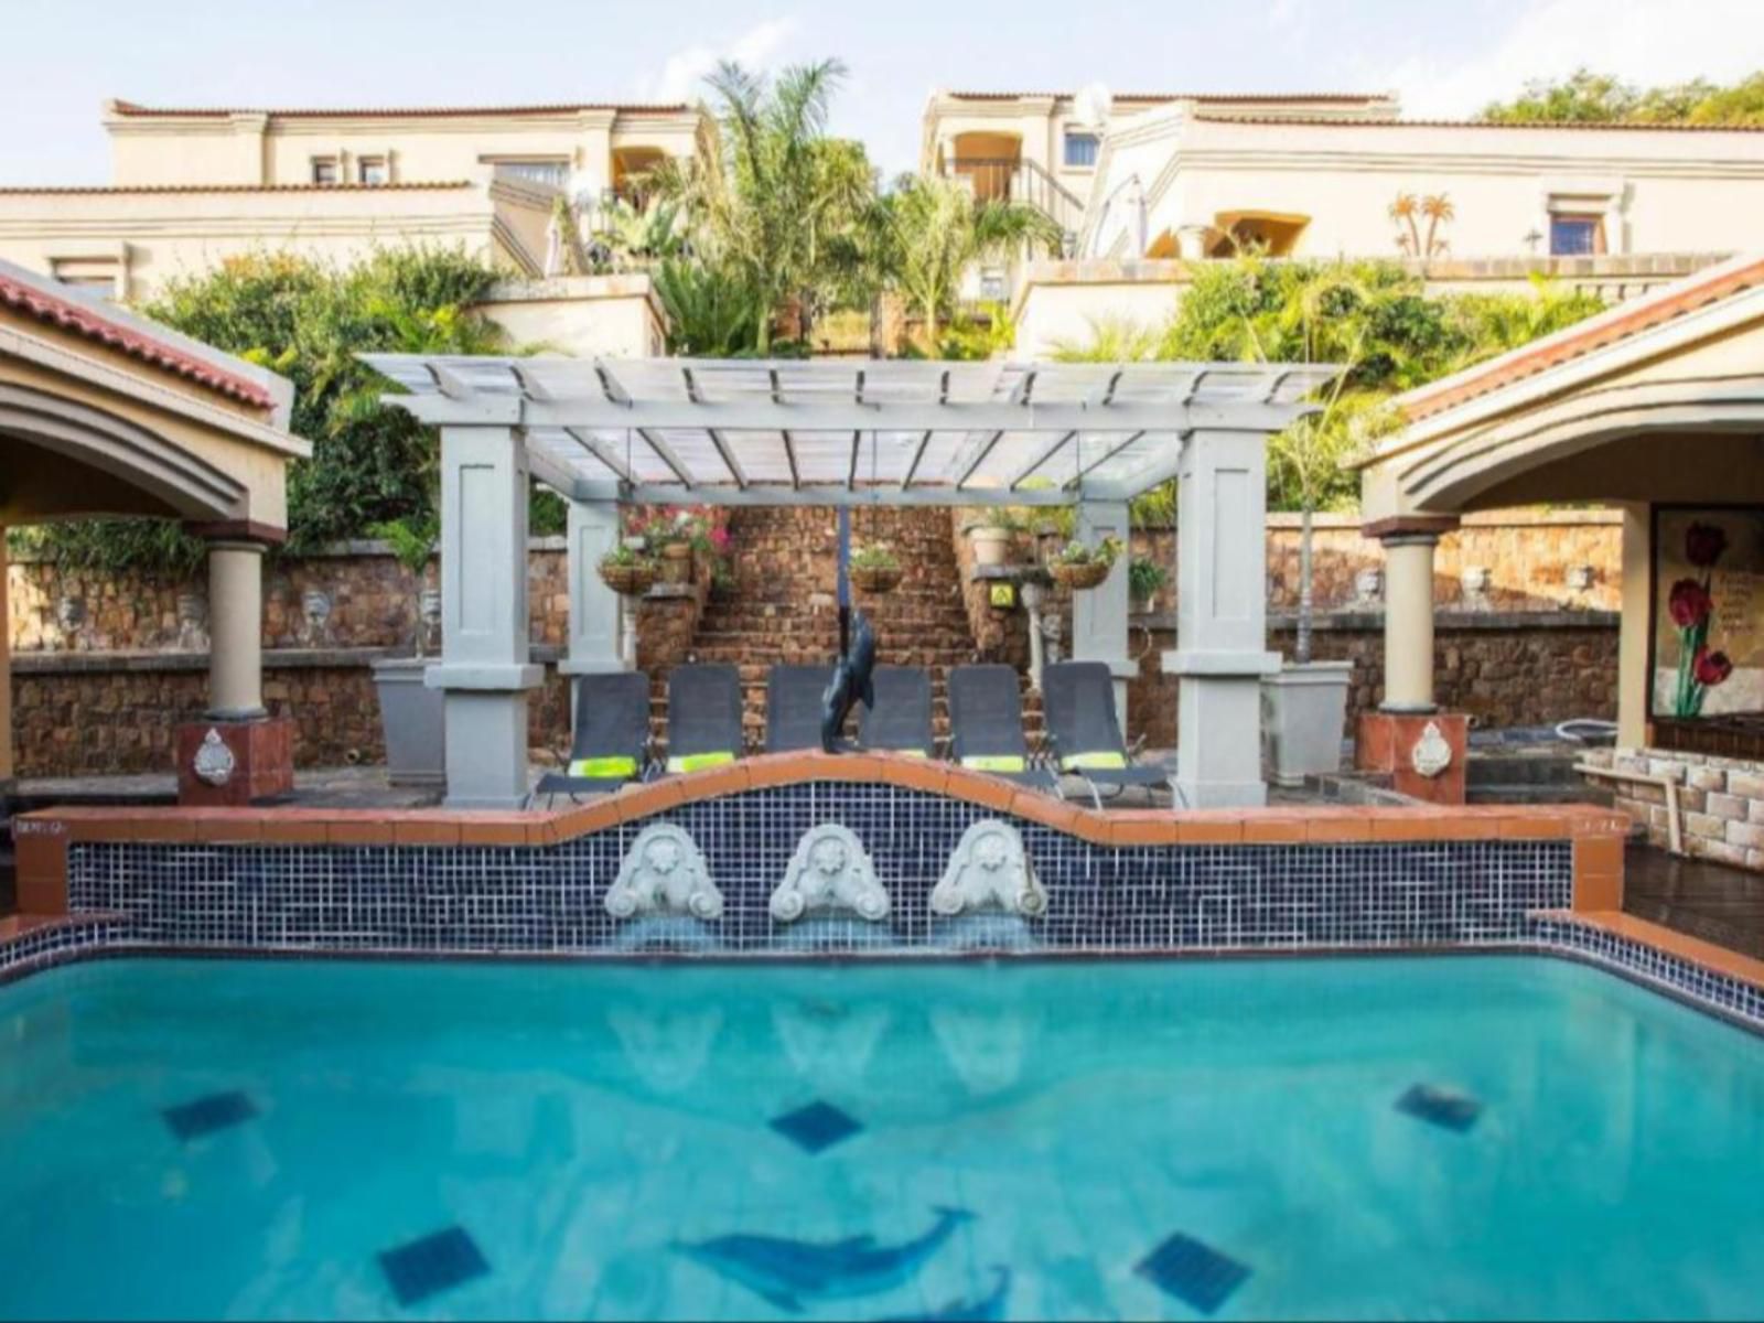
[[[443,427],[513,427],[577,499],[1065,505],[1175,476],[1191,432],[1275,432],[1314,363],[363,355]]]

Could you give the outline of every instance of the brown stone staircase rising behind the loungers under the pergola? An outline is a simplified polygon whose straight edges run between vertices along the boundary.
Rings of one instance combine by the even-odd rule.
[[[743,725],[750,750],[766,744],[766,676],[780,663],[831,665],[840,649],[836,602],[838,517],[831,508],[741,508],[730,524],[734,582],[713,589],[688,660],[741,669]],[[946,677],[975,660],[974,633],[961,605],[961,570],[951,543],[949,512],[884,508],[852,512],[852,540],[886,542],[905,568],[887,594],[854,593],[877,632],[878,665],[931,672],[933,723],[949,734]],[[667,677],[656,676],[651,725],[667,739]],[[1027,693],[1030,741],[1041,725],[1041,697]],[[942,748],[940,748],[942,751]]]

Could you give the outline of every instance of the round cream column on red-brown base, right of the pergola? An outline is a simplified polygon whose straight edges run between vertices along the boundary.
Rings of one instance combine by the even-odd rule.
[[[1438,804],[1464,803],[1469,720],[1434,702],[1434,549],[1455,515],[1394,515],[1362,531],[1385,547],[1385,700],[1355,730],[1355,766]]]

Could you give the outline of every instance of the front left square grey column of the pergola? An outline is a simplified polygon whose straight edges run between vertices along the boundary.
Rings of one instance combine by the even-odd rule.
[[[510,427],[441,429],[441,663],[448,806],[527,797],[527,453]]]

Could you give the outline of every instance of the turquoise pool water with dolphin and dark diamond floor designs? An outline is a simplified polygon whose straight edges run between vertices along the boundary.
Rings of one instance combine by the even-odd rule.
[[[101,961],[0,1062],[5,1318],[1764,1304],[1764,1041],[1542,958]]]

